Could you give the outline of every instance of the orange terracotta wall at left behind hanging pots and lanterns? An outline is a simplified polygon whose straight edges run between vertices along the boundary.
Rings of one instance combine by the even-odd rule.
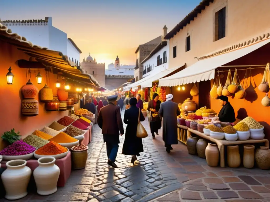
[[[22,137],[31,134],[36,129],[41,129],[44,126],[49,126],[53,121],[59,120],[61,117],[67,115],[65,112],[48,112],[45,110],[45,103],[39,102],[39,114],[34,117],[21,116],[21,100],[23,99],[21,88],[26,84],[26,69],[19,68],[15,62],[19,59],[28,60],[29,56],[19,51],[15,46],[0,41],[0,134],[5,131],[15,128],[15,131],[20,131]],[[6,73],[11,66],[14,76],[13,85],[8,85],[6,82]],[[36,74],[37,74],[36,70]],[[45,85],[45,70],[40,69],[42,74],[42,84],[37,84],[34,70],[32,70],[31,81],[40,90]],[[53,95],[56,95],[56,88],[54,82],[56,82],[56,75],[52,73],[49,75],[50,79],[48,86],[53,89]],[[39,99],[38,96],[35,98]],[[1,149],[2,138],[0,138]]]

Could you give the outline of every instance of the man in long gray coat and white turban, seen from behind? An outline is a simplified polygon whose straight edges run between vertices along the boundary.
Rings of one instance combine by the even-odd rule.
[[[173,95],[166,95],[166,102],[161,103],[159,116],[162,120],[163,141],[166,151],[170,153],[172,144],[178,144],[177,140],[177,116],[180,115],[178,104],[173,102]]]

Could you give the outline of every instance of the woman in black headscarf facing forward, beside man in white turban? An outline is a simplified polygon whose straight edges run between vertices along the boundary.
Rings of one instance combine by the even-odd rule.
[[[150,112],[149,114],[149,125],[151,129],[151,134],[153,139],[155,138],[155,133],[158,135],[158,130],[161,128],[161,120],[160,117],[153,117],[153,114],[158,114],[158,110],[160,109],[160,100],[158,100],[159,96],[157,93],[154,93],[153,100],[148,102],[147,110]]]

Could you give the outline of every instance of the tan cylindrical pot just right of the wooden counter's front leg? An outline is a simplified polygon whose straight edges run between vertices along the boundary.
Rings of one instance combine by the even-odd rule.
[[[240,166],[241,159],[238,145],[227,146],[227,163],[230,168],[238,168]]]

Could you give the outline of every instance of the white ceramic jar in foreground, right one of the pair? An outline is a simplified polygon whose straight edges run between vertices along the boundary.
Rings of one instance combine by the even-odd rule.
[[[33,175],[39,195],[50,195],[57,191],[57,182],[60,169],[55,165],[55,158],[41,157],[38,159],[39,166],[34,170]]]

